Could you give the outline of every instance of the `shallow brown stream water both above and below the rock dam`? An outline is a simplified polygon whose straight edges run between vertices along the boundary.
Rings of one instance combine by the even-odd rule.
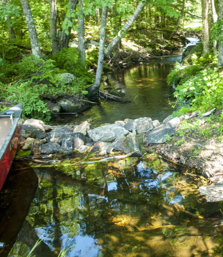
[[[139,94],[134,103],[101,102],[54,122],[162,121],[174,110],[166,76],[182,51],[109,73],[127,99]],[[154,154],[86,165],[73,153],[59,158],[67,162],[56,168],[13,163],[0,192],[0,257],[26,257],[38,238],[36,257],[223,256],[223,203],[200,195],[196,173]]]

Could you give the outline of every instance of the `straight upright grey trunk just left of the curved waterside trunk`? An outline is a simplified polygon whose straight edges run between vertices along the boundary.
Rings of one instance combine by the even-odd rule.
[[[80,7],[83,7],[82,0],[78,2]],[[85,67],[86,58],[85,58],[85,41],[84,41],[84,14],[81,9],[78,15],[78,49],[80,51],[79,61],[82,66]]]

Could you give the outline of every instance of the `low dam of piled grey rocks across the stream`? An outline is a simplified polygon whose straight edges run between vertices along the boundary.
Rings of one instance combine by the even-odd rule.
[[[145,143],[164,143],[166,135],[171,137],[179,123],[178,117],[169,116],[161,125],[158,120],[145,117],[94,128],[89,121],[78,126],[49,126],[41,120],[29,119],[22,125],[20,148],[31,149],[33,155],[70,152],[75,148],[80,153],[91,150],[107,154],[114,150],[142,156]]]

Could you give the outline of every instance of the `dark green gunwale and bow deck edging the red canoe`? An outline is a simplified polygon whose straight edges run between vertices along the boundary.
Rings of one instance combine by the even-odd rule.
[[[22,114],[22,104],[17,104],[15,106],[13,106],[12,108],[9,108],[9,109],[5,110],[4,112],[1,112],[0,116],[8,115],[7,112],[13,112],[13,113],[10,113],[10,115],[12,114],[14,121],[12,123],[10,130],[8,131],[8,135],[6,136],[2,147],[0,148],[0,161],[6,152],[6,149],[12,139],[12,136],[15,132],[16,127],[18,126],[18,122],[19,122],[19,120],[21,118],[21,114]],[[5,116],[3,116],[3,117],[5,117]]]

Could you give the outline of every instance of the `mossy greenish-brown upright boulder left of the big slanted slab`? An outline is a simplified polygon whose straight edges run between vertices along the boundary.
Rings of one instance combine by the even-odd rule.
[[[145,148],[143,146],[143,134],[134,135],[133,133],[129,133],[126,136],[124,152],[125,154],[129,154],[136,151],[132,155],[142,156],[145,153]]]

